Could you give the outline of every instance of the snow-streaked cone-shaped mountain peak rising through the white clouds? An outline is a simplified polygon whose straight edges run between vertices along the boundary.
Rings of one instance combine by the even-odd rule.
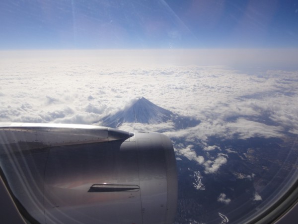
[[[180,116],[176,113],[163,109],[146,98],[142,97],[127,107],[123,111],[116,112],[113,115],[103,117],[102,124],[109,127],[117,128],[122,123],[147,123],[158,124],[167,121],[173,121],[176,129],[195,126],[200,123],[199,120]]]

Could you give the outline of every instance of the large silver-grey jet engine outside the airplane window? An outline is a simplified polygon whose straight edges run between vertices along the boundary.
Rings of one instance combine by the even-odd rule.
[[[0,123],[0,168],[1,194],[29,223],[174,222],[176,161],[160,133]]]

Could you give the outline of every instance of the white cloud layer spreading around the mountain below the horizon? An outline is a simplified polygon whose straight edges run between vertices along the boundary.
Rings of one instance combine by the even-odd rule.
[[[130,52],[0,52],[0,121],[100,124],[102,117],[143,96],[201,123],[180,130],[170,121],[124,123],[120,128],[165,131],[172,139],[182,138],[182,145],[175,143],[177,155],[202,165],[207,174],[227,162],[221,148],[208,145],[210,136],[298,134],[298,71],[246,74],[227,66],[192,64],[195,53],[187,55],[191,59],[186,64],[175,63],[174,57],[162,60],[169,53],[149,51],[156,59],[146,52]],[[216,156],[197,155],[194,144]]]

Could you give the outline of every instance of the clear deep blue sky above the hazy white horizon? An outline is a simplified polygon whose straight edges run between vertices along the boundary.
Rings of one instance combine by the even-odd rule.
[[[296,48],[295,0],[1,0],[0,50]]]

